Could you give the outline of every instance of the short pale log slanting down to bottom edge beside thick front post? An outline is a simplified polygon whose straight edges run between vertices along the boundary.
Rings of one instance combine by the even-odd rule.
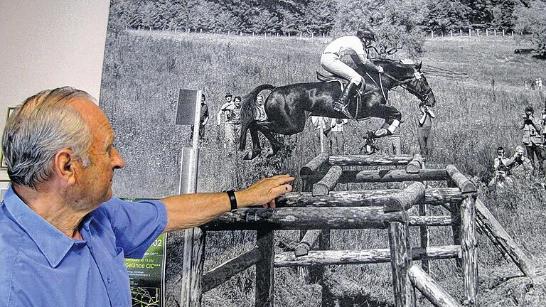
[[[432,277],[419,266],[412,265],[408,271],[412,284],[436,307],[461,307]]]

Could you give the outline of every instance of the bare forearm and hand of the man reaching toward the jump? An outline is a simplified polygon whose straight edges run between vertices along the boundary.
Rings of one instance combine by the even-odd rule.
[[[264,178],[245,190],[235,192],[238,208],[263,205],[275,207],[275,198],[292,190],[294,177],[279,175]],[[163,198],[167,210],[166,232],[197,227],[230,211],[227,193],[183,194]]]

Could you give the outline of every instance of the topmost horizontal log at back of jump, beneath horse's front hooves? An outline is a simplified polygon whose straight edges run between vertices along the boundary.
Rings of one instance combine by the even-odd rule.
[[[328,163],[336,166],[405,166],[412,161],[412,158],[414,158],[412,155],[345,155],[330,156]]]

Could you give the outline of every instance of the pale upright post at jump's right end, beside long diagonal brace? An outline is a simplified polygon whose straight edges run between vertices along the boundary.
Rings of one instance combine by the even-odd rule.
[[[461,203],[461,256],[463,262],[465,305],[476,304],[478,293],[478,255],[476,247],[475,195],[469,195]]]

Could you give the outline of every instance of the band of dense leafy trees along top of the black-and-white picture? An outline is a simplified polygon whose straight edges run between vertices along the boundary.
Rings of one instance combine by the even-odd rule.
[[[281,35],[353,33],[373,28],[380,53],[417,54],[423,31],[504,29],[533,36],[544,49],[546,0],[112,0],[110,28]],[[539,42],[539,43],[536,43]]]

